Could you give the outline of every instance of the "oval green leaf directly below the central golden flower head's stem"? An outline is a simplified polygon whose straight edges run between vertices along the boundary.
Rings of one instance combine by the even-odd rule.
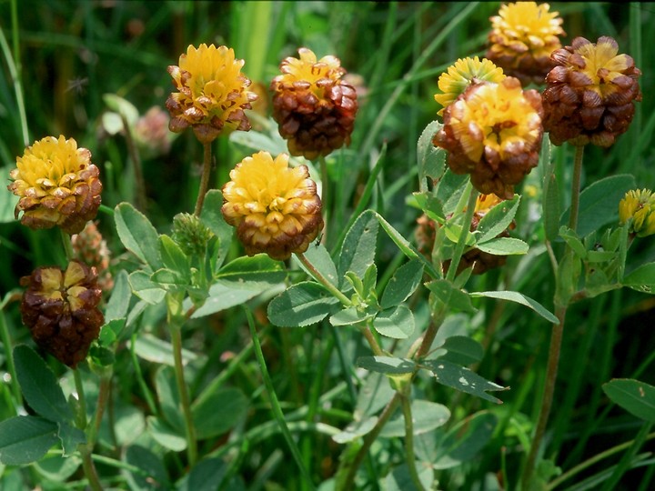
[[[279,327],[316,324],[336,311],[338,300],[314,282],[301,282],[287,288],[268,304],[268,320]]]

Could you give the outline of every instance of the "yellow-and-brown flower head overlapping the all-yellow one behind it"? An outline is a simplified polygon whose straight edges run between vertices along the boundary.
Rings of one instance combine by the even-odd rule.
[[[470,85],[446,107],[432,143],[448,150],[450,170],[470,174],[480,193],[509,199],[539,162],[541,117],[539,92],[521,90],[517,78]]]

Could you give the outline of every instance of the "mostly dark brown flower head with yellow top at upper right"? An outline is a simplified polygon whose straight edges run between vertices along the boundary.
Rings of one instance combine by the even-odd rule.
[[[544,129],[554,145],[614,145],[641,100],[640,69],[629,55],[618,55],[609,36],[596,44],[576,37],[551,55],[555,67],[543,93]]]

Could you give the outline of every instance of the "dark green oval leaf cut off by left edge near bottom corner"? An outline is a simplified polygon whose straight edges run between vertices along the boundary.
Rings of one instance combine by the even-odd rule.
[[[0,462],[25,466],[57,443],[57,425],[39,416],[15,416],[0,422]]]

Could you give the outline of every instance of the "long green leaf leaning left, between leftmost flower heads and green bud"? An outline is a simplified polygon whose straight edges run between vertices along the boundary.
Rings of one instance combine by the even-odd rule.
[[[114,221],[116,232],[128,251],[153,270],[162,266],[159,237],[146,215],[129,203],[120,203],[114,208]]]

